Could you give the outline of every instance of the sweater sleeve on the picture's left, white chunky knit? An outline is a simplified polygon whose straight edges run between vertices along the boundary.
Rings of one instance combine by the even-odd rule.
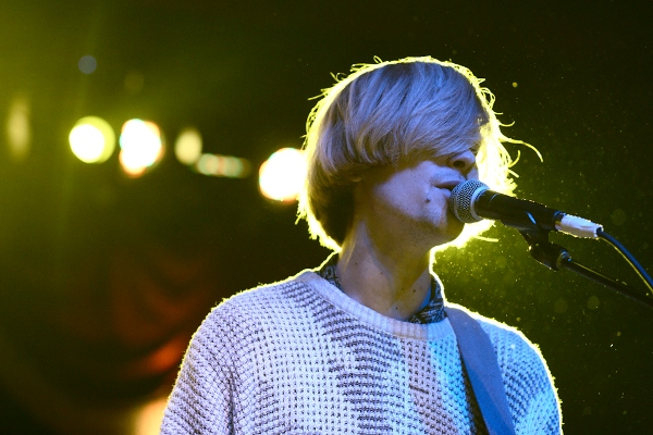
[[[168,399],[162,435],[232,433],[232,365],[225,341],[220,323],[210,314],[184,356]]]

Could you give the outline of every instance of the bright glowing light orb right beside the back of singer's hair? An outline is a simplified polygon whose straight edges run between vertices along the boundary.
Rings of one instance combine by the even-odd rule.
[[[259,188],[261,194],[276,201],[294,201],[304,187],[306,158],[304,151],[283,148],[261,164]]]

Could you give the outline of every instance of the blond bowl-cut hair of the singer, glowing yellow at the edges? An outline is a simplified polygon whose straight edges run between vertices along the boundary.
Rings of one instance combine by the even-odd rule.
[[[426,57],[354,65],[324,89],[307,121],[308,174],[298,207],[311,238],[340,250],[353,217],[355,179],[371,167],[480,146],[479,178],[510,194],[514,161],[502,142],[523,142],[501,133],[494,96],[482,82],[465,66]],[[490,226],[466,225],[448,245],[461,246]]]

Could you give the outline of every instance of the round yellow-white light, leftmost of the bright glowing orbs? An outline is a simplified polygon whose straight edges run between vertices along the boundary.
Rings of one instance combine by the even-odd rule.
[[[115,134],[101,117],[86,116],[75,123],[69,142],[77,159],[85,163],[102,163],[115,149]]]

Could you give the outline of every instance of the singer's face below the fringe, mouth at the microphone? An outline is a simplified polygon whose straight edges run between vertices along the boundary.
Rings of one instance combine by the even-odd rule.
[[[447,201],[455,186],[476,178],[471,150],[411,165],[374,169],[357,186],[355,220],[366,221],[377,243],[399,239],[430,249],[460,235],[464,224],[448,210]]]

